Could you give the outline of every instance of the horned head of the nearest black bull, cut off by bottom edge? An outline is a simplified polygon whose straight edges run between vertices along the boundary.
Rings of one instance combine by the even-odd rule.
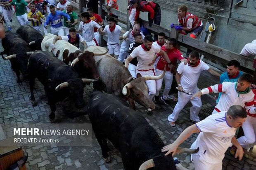
[[[195,154],[199,151],[197,149],[187,149],[187,148],[177,148],[177,153],[187,153],[187,154]],[[153,168],[154,170],[175,170],[175,163],[173,161],[173,157],[171,154],[165,156],[165,153],[161,153],[158,156],[154,156],[154,158],[149,159],[140,165],[139,170],[147,170],[149,168]],[[188,170],[183,167],[183,170]]]

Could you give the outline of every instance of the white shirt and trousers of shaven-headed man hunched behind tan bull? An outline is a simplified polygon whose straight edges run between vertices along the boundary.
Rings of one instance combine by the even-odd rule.
[[[134,31],[132,30],[130,32],[130,34],[128,35],[129,31],[127,31],[126,33],[123,34],[123,36],[126,36],[126,40],[124,40],[121,44],[120,47],[120,53],[119,53],[119,57],[118,57],[118,61],[120,62],[124,62],[124,59],[129,55],[129,47],[130,47],[130,43],[135,42],[135,38],[134,38]],[[142,39],[144,39],[144,35],[142,33],[140,33],[142,35]]]

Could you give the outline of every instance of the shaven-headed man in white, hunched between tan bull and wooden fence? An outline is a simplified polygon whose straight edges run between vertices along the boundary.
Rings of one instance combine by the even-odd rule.
[[[121,44],[120,53],[118,57],[118,61],[121,63],[124,62],[124,59],[129,55],[129,45],[132,42],[135,42],[134,35],[140,33],[140,25],[134,24],[133,30],[129,33],[127,31],[125,34],[123,34],[123,42]],[[144,35],[142,34],[142,39],[144,39]]]

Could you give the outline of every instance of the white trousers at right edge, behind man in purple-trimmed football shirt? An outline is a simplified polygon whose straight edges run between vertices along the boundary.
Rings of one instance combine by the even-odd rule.
[[[256,145],[256,117],[247,115],[242,128],[244,136],[239,137],[237,140],[243,148],[249,149]]]

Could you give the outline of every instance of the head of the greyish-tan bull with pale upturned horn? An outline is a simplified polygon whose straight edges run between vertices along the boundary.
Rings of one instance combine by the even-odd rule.
[[[159,76],[146,76],[142,77],[140,73],[137,74],[137,79],[132,80],[123,86],[122,93],[125,96],[129,96],[140,105],[146,107],[147,109],[154,109],[155,105],[151,99],[149,99],[148,95],[148,87],[146,84],[147,80],[157,80],[164,77],[166,72],[166,68],[164,68],[163,74]]]

